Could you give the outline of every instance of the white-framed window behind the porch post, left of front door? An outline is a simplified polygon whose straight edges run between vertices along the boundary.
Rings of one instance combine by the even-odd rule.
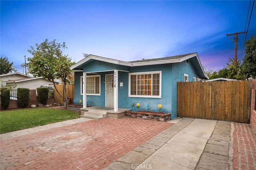
[[[83,76],[81,76],[80,91],[81,95],[84,93]],[[86,95],[100,95],[100,75],[86,76]]]

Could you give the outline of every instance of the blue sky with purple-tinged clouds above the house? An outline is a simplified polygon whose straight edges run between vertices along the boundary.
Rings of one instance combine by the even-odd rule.
[[[66,42],[73,61],[83,53],[122,61],[198,52],[207,69],[234,57],[226,34],[247,30],[253,1],[3,1],[1,56],[20,65],[30,46],[45,39]],[[247,20],[247,24],[246,24]],[[238,58],[246,34],[238,36]],[[246,40],[256,36],[252,12]]]

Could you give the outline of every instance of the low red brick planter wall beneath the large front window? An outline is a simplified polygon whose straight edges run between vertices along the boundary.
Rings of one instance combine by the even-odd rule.
[[[170,113],[160,114],[154,112],[135,112],[135,111],[125,111],[125,117],[132,117],[132,118],[139,118],[139,119],[149,119],[153,121],[162,121],[166,122],[169,121],[171,118]]]

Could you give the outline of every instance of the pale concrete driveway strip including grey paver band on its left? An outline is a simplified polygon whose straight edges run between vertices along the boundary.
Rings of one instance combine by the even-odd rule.
[[[119,158],[104,170],[195,169],[217,121],[185,118]]]

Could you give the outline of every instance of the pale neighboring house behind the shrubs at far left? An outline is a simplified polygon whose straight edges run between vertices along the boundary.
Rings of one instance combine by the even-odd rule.
[[[8,73],[0,75],[0,79],[3,81],[3,85],[6,84],[11,85],[13,90],[17,88],[28,88],[28,89],[36,89],[41,85],[52,85],[53,83],[43,79],[42,77],[31,77],[26,76],[22,73]],[[56,84],[60,84],[61,81],[56,80]]]

